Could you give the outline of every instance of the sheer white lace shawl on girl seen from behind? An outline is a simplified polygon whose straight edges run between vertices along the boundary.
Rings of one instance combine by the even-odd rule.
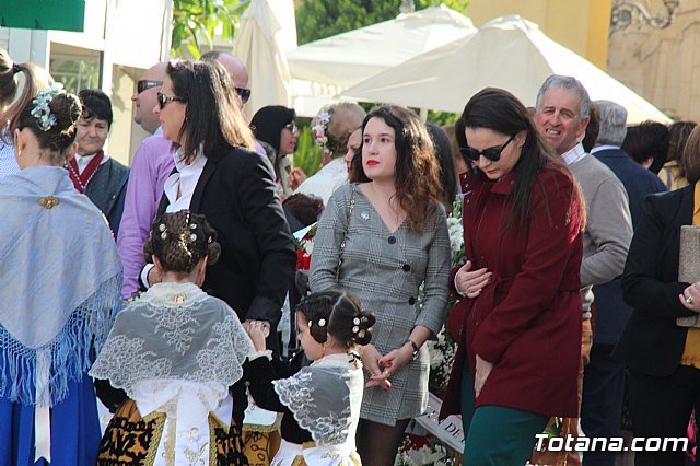
[[[226,303],[194,283],[159,283],[117,315],[90,375],[135,400],[144,381],[200,383],[221,399],[254,352]]]

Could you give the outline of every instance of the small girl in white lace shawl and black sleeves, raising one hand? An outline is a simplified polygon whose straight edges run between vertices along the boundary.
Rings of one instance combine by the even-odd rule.
[[[372,339],[373,315],[351,293],[328,290],[296,306],[299,340],[312,364],[288,378],[271,361],[260,324],[248,327],[258,353],[246,365],[248,389],[264,409],[283,412],[275,466],[361,465],[354,436],[364,389],[358,345]]]

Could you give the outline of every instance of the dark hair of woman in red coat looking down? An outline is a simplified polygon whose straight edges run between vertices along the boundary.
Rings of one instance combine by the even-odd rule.
[[[521,158],[513,167],[515,183],[511,197],[513,200],[504,231],[515,226],[521,234],[527,232],[530,218],[530,194],[537,177],[547,163],[555,163],[573,179],[573,176],[553,155],[535,128],[527,108],[513,94],[502,89],[487,88],[475,94],[464,107],[462,117],[455,126],[455,136],[460,148],[468,147],[466,128],[487,128],[505,136],[525,131],[525,143]],[[475,172],[479,170],[469,161]],[[545,193],[542,187],[542,193]],[[585,210],[582,210],[584,212]]]

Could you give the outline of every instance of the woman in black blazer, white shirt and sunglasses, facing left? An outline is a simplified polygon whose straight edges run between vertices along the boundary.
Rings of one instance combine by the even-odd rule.
[[[189,209],[219,233],[221,259],[202,286],[244,321],[275,327],[296,253],[267,158],[250,150],[253,133],[233,81],[215,61],[167,66],[154,112],[163,137],[178,148],[159,215]],[[149,282],[158,280],[149,272]]]

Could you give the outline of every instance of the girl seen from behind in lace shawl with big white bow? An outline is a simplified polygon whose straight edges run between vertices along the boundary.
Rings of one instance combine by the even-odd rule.
[[[233,421],[245,400],[229,388],[255,350],[236,313],[199,288],[221,252],[217,232],[189,210],[165,213],[143,251],[163,281],[119,313],[90,371],[127,396],[97,464],[247,464]]]

